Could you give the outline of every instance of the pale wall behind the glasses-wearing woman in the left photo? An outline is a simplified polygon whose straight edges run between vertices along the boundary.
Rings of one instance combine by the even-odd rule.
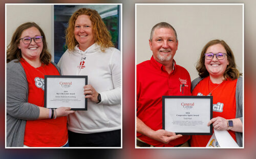
[[[53,56],[52,7],[53,5],[6,5],[6,45],[11,42],[12,35],[19,25],[35,22],[44,31],[48,49]]]

